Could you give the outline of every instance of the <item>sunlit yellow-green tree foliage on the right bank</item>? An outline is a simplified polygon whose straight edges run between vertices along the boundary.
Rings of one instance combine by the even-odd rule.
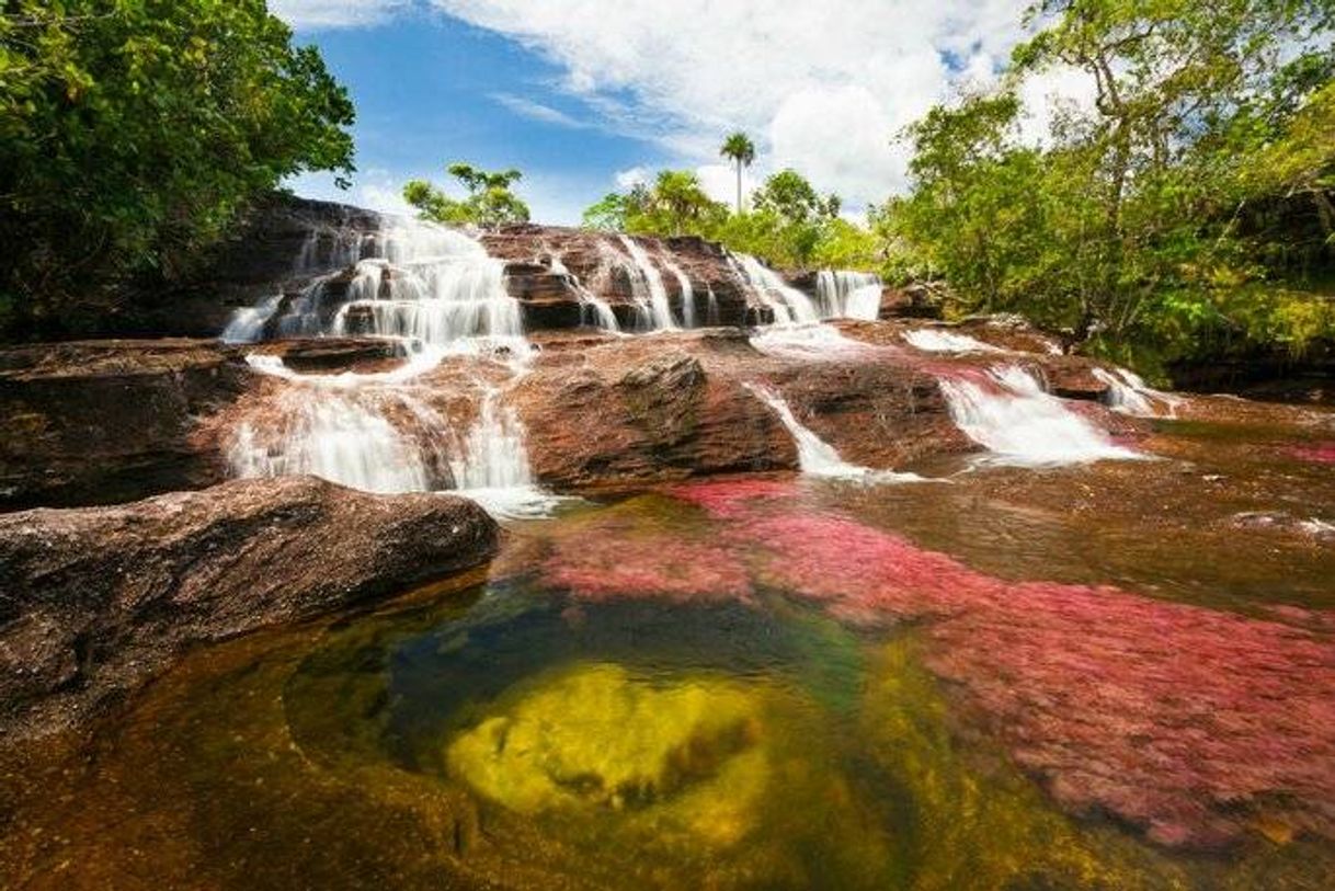
[[[1335,264],[1332,8],[1044,0],[997,92],[908,131],[913,191],[877,230],[960,310],[1020,311],[1103,349],[1331,337],[1323,298],[1267,294]],[[1052,69],[1095,99],[1036,146],[1016,96]]]

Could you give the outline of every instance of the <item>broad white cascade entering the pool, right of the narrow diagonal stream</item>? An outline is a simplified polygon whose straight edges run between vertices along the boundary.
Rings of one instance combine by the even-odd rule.
[[[1048,466],[1143,457],[1113,445],[1016,365],[991,369],[984,381],[943,378],[941,391],[956,426],[985,446],[995,464]]]

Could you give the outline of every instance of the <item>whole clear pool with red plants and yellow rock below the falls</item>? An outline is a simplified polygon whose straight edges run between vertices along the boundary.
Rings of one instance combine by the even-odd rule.
[[[0,884],[1330,887],[1335,474],[1266,430],[514,522],[4,764]]]

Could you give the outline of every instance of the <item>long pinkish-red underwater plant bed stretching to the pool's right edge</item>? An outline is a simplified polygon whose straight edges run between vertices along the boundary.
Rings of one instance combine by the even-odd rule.
[[[1007,581],[840,514],[793,510],[773,488],[696,489],[678,493],[726,521],[724,542],[749,554],[757,581],[846,621],[925,622],[928,668],[1065,810],[1111,814],[1175,847],[1231,844],[1260,820],[1335,838],[1335,644],[1314,631],[1326,625],[1316,614],[1290,624],[1283,612],[1254,620],[1111,586]],[[670,553],[650,550],[658,565]],[[734,564],[712,565],[744,588]]]

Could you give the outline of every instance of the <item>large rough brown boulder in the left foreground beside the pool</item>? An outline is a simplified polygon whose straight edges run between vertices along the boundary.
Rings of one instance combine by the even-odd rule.
[[[471,501],[314,477],[0,517],[0,737],[93,717],[194,644],[475,566],[497,540]]]

